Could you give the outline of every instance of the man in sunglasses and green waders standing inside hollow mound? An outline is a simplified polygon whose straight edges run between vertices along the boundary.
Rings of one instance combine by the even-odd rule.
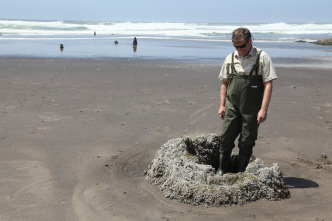
[[[218,114],[224,120],[217,170],[220,176],[228,171],[238,136],[237,169],[245,171],[257,140],[258,126],[267,117],[272,81],[278,78],[269,55],[252,46],[247,28],[234,30],[232,42],[236,51],[226,57],[219,75],[222,83]]]

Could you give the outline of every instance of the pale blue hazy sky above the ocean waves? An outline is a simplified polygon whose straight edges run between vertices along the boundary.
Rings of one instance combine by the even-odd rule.
[[[0,0],[0,19],[332,22],[331,0]]]

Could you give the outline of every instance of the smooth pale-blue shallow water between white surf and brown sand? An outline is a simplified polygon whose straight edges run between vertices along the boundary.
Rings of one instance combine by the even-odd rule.
[[[137,38],[138,46],[133,48],[132,38],[128,39],[90,39],[90,40],[3,40],[1,41],[1,57],[45,57],[45,58],[82,58],[82,59],[194,59],[216,62],[223,60],[234,51],[230,41],[210,42],[191,40],[167,40]],[[114,41],[118,41],[115,44]],[[63,45],[60,50],[59,45]],[[274,59],[312,57],[332,57],[331,46],[298,42],[262,42],[254,45],[265,50]]]

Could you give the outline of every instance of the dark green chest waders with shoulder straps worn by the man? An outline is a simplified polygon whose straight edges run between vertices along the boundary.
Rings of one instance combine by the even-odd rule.
[[[244,172],[252,155],[259,126],[257,114],[261,108],[264,93],[263,79],[261,75],[258,75],[260,54],[261,51],[258,52],[256,63],[248,75],[237,73],[234,67],[234,53],[232,54],[217,175],[222,176],[227,172],[230,155],[238,135],[240,135],[239,165],[237,171],[232,172]]]

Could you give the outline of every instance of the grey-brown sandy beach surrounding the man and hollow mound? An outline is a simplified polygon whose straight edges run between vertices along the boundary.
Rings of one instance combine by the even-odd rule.
[[[220,65],[1,58],[0,67],[0,220],[332,219],[330,69],[277,65],[254,154],[279,163],[291,198],[207,208],[165,198],[144,170],[169,139],[220,132]]]

